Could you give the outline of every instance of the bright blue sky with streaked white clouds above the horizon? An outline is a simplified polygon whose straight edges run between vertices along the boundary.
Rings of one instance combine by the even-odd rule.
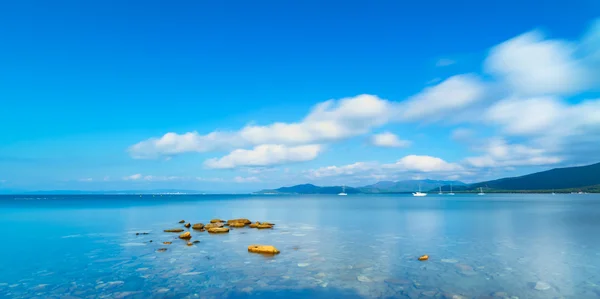
[[[0,192],[600,162],[600,2],[4,1]]]

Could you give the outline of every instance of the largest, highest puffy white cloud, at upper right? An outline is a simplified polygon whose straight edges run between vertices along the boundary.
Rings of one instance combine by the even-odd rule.
[[[532,31],[494,47],[485,69],[519,95],[565,95],[589,88],[591,73],[577,59],[577,45],[546,40]]]

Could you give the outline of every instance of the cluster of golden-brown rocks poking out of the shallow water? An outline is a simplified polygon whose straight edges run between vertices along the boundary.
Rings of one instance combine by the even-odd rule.
[[[203,223],[194,223],[191,224],[185,220],[179,221],[179,224],[183,224],[183,226],[187,229],[191,228],[194,231],[204,232],[208,231],[211,234],[223,234],[229,233],[229,228],[256,228],[256,229],[270,229],[273,228],[275,224],[269,222],[252,222],[246,218],[239,219],[231,219],[231,220],[221,220],[221,219],[212,219],[210,223],[204,225]],[[192,234],[189,231],[185,231],[183,228],[171,228],[165,229],[166,233],[182,233],[179,235],[179,239],[187,240],[187,245],[192,246],[195,243],[200,243],[200,241],[196,240],[194,242],[189,242],[192,238]],[[170,245],[172,242],[163,242],[164,245]],[[158,252],[165,252],[167,248],[160,248]],[[248,246],[248,252],[254,253],[262,253],[262,254],[279,254],[279,250],[271,245],[250,245]]]

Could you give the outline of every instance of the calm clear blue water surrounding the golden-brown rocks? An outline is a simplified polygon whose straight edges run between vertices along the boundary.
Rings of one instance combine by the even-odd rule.
[[[163,232],[212,218],[276,225]],[[2,298],[600,296],[594,194],[0,196],[0,236]]]

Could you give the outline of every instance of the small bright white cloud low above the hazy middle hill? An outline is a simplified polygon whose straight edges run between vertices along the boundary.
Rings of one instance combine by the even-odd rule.
[[[396,163],[384,164],[382,167],[394,169],[396,171],[415,172],[447,172],[463,170],[463,167],[456,163],[448,163],[437,157],[419,155],[405,156],[396,161]]]

